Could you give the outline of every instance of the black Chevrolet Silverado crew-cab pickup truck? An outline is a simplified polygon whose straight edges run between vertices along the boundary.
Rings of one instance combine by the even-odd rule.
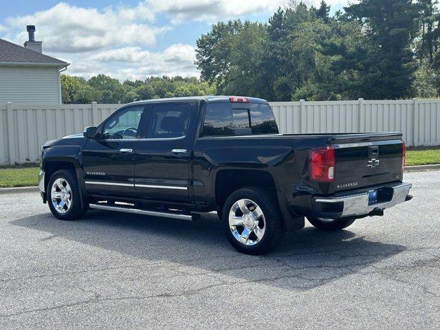
[[[341,230],[411,199],[401,133],[282,135],[265,100],[170,98],[120,107],[98,127],[41,147],[55,217],[89,209],[191,220],[217,211],[244,253],[284,232]]]

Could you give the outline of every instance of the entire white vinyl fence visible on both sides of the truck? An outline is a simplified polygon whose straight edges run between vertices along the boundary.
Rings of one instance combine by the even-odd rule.
[[[0,164],[38,162],[47,140],[82,133],[122,104],[0,104]],[[440,100],[272,102],[281,133],[401,131],[408,146],[440,145]]]

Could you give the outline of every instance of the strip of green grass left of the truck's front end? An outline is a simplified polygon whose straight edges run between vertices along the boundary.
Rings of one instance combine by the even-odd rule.
[[[38,167],[0,168],[0,188],[36,186]]]

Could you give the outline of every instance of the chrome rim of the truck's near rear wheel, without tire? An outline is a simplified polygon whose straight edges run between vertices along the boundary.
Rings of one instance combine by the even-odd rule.
[[[263,211],[250,199],[239,199],[229,212],[229,228],[243,245],[255,245],[263,239],[266,221]]]

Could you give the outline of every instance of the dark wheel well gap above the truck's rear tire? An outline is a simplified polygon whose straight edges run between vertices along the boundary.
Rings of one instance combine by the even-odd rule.
[[[264,170],[220,170],[215,180],[217,206],[223,206],[235,190],[250,186],[276,190],[272,175]]]

